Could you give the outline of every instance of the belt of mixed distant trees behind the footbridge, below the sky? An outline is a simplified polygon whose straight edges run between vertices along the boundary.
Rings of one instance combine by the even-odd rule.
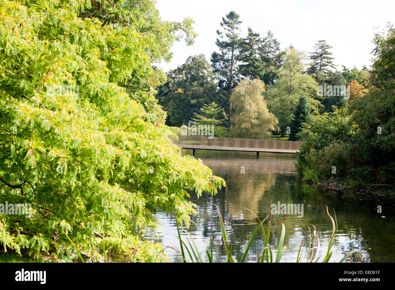
[[[344,88],[349,85],[350,102],[366,92],[367,68],[348,69],[343,65],[341,71],[335,70],[332,47],[325,40],[319,40],[309,55],[292,45],[281,51],[280,42],[271,30],[261,36],[248,27],[247,35],[241,37],[241,24],[239,14],[230,11],[222,17],[217,30],[218,51],[211,54],[211,63],[199,54],[167,72],[167,80],[156,94],[158,103],[167,112],[166,125],[181,127],[196,118],[203,106],[214,102],[224,116],[217,125],[223,127],[217,136],[258,138],[281,133],[281,137],[285,137],[291,131],[292,140],[297,140],[302,121],[314,111],[332,112],[333,106],[344,106],[347,101],[344,98],[347,91],[318,94],[319,86]],[[260,122],[253,125],[249,123],[253,119],[246,119],[246,116],[261,114],[255,106],[246,106],[242,101],[245,96],[240,94],[246,89],[241,89],[241,84],[248,86],[252,80],[261,82],[260,110],[267,108],[275,117],[270,118],[267,126],[255,128]],[[299,116],[301,112],[303,115]]]

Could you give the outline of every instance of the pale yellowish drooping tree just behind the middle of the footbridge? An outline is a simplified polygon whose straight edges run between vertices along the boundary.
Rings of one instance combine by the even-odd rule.
[[[233,90],[231,101],[235,105],[232,116],[231,137],[263,139],[275,130],[277,119],[269,112],[263,99],[265,84],[259,79],[242,80]]]

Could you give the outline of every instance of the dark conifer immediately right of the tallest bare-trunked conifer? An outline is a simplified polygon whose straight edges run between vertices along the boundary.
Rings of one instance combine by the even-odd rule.
[[[239,72],[248,80],[262,79],[265,72],[265,63],[259,55],[259,47],[262,43],[259,33],[252,31],[248,27],[248,34],[240,45],[239,60],[243,64],[239,65]]]

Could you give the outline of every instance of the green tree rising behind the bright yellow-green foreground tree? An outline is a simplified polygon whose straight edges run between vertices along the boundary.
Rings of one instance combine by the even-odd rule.
[[[184,39],[187,45],[192,45],[197,34],[193,30],[194,21],[184,18],[181,21],[162,21],[155,1],[152,0],[110,0],[91,2],[91,6],[83,7],[78,17],[97,18],[104,25],[133,28],[145,39],[144,51],[150,62],[169,62],[172,57],[170,47],[175,41]],[[111,54],[114,46],[103,47],[102,54]],[[154,124],[163,124],[166,113],[154,98],[158,85],[166,81],[166,74],[156,67],[144,67],[149,77],[145,78],[143,70],[134,71],[133,77],[118,85],[126,88],[132,99],[143,105],[147,116],[145,119]]]

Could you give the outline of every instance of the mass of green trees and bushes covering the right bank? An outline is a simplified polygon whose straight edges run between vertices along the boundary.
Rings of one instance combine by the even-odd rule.
[[[394,193],[395,28],[376,34],[369,92],[332,113],[315,115],[297,136],[305,143],[297,174],[306,180],[341,181],[349,188],[372,186]],[[380,52],[380,53],[379,53]],[[336,173],[331,168],[336,167]]]

